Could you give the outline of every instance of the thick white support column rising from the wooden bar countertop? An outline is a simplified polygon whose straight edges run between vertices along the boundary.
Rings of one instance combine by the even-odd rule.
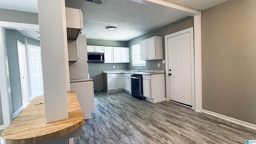
[[[68,118],[65,0],[38,0],[46,123]]]

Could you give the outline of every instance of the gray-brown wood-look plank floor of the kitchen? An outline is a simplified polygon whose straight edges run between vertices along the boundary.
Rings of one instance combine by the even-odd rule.
[[[245,144],[256,130],[172,102],[96,92],[95,112],[75,144]]]

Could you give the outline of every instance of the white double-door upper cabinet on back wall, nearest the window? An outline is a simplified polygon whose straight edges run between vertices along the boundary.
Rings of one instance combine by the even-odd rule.
[[[124,47],[113,47],[114,63],[129,63],[130,49]]]

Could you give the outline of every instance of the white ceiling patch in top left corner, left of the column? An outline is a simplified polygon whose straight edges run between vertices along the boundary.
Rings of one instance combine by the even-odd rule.
[[[0,0],[0,8],[25,12],[38,12],[37,0]]]

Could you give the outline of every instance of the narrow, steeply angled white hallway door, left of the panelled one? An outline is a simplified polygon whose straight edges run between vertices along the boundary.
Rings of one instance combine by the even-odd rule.
[[[21,42],[17,42],[18,46],[18,60],[20,68],[20,86],[22,93],[22,102],[29,102],[28,99],[28,81],[27,81],[27,69],[26,69],[26,49],[25,45]]]

